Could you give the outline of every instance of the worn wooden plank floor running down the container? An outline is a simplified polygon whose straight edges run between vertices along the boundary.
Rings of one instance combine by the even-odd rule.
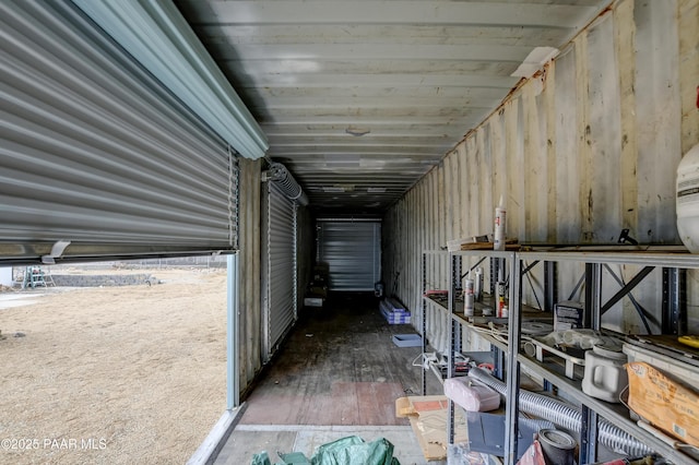
[[[246,400],[240,425],[408,425],[395,400],[420,395],[413,367],[420,347],[398,347],[372,294],[339,293],[322,309],[304,309],[279,356]],[[428,394],[441,393],[428,373]]]

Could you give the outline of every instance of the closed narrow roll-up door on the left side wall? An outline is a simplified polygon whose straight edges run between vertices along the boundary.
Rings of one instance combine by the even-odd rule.
[[[266,182],[263,230],[265,354],[272,355],[297,317],[296,204],[276,182]]]

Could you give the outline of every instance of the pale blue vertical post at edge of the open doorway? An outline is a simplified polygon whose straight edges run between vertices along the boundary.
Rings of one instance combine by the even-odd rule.
[[[238,367],[238,252],[226,257],[226,408],[240,405],[240,370]]]

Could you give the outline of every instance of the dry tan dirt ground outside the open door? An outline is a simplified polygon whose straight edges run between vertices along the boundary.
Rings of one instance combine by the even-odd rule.
[[[133,273],[0,309],[0,463],[185,463],[218,420],[225,270]]]

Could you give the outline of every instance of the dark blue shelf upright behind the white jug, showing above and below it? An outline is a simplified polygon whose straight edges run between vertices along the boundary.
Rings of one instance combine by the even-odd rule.
[[[602,318],[602,265],[585,263],[585,327],[600,330]],[[583,406],[580,426],[580,456],[578,463],[595,462],[597,455],[597,414]]]

